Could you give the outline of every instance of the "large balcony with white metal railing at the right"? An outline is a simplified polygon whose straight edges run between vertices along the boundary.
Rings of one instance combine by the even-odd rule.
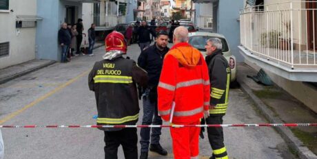
[[[293,81],[317,82],[317,9],[311,2],[241,10],[240,52],[246,60]]]

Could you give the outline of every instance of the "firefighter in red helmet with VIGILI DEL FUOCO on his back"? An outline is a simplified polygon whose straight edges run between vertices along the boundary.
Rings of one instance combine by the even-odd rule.
[[[88,77],[98,110],[97,125],[135,125],[139,119],[136,84],[147,85],[147,73],[134,60],[123,58],[127,44],[123,34],[112,32],[105,38],[106,53]],[[118,158],[122,145],[125,158],[138,158],[136,128],[99,128],[105,133],[105,158]]]

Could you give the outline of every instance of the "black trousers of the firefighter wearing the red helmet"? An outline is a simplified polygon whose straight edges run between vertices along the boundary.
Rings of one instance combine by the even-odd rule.
[[[117,159],[119,145],[122,145],[126,159],[137,159],[137,142],[136,128],[124,128],[114,132],[105,131],[105,159]]]

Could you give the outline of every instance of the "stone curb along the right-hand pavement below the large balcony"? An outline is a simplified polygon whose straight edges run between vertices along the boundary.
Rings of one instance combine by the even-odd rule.
[[[241,85],[241,90],[243,90],[244,93],[249,95],[249,97],[254,101],[256,108],[258,108],[267,118],[269,123],[284,123],[282,120],[280,120],[278,117],[274,116],[274,112],[270,110],[263,101],[261,101],[254,93],[252,92],[251,88],[247,86],[244,82],[238,79],[238,83]],[[317,159],[317,156],[311,152],[303,143],[294,136],[291,130],[289,130],[288,127],[274,127],[274,129],[282,136],[282,138],[286,141],[287,145],[289,147],[292,147],[292,149],[295,149],[298,151],[298,156],[300,159]]]

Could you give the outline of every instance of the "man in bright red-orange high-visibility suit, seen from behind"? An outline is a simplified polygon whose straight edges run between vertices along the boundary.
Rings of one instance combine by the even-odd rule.
[[[166,54],[158,86],[159,114],[171,124],[197,125],[209,115],[209,76],[203,55],[188,41],[188,30],[177,27],[174,47]],[[174,115],[171,115],[173,112]],[[200,127],[170,128],[174,158],[198,158]]]

